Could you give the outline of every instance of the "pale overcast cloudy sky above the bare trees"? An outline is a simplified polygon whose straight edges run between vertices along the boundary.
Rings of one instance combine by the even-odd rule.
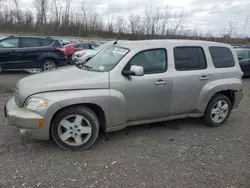
[[[21,0],[23,7],[30,7],[33,0]],[[140,12],[145,6],[170,6],[176,11],[189,12],[185,29],[211,32],[218,35],[228,28],[229,20],[237,21],[235,33],[250,35],[250,0],[85,0],[95,6],[95,10],[107,17],[110,15],[127,16],[131,12]],[[82,0],[72,0],[72,7],[77,8]]]

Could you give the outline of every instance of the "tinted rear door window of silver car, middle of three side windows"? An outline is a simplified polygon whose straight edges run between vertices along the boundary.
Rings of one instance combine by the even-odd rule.
[[[177,71],[202,70],[207,68],[206,57],[201,47],[175,47],[174,60]]]

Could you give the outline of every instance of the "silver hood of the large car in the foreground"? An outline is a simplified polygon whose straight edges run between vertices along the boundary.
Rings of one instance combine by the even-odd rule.
[[[108,89],[109,73],[79,69],[75,66],[27,76],[17,83],[20,104],[33,94],[75,90],[75,89]]]

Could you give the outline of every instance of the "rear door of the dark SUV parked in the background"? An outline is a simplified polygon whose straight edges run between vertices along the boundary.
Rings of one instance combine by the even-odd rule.
[[[39,68],[40,62],[38,62],[37,59],[42,53],[40,40],[32,37],[21,37],[20,46],[22,68]]]

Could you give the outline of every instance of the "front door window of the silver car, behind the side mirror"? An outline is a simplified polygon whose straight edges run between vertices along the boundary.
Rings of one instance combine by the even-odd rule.
[[[144,74],[166,72],[167,51],[165,49],[152,49],[139,52],[126,65],[125,70],[129,70],[132,65],[142,66]]]

